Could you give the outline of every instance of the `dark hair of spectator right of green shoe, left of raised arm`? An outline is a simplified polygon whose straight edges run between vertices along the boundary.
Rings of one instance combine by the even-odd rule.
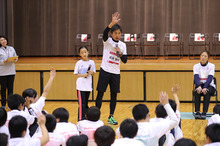
[[[136,121],[146,119],[149,109],[145,104],[137,104],[132,109],[133,117]]]

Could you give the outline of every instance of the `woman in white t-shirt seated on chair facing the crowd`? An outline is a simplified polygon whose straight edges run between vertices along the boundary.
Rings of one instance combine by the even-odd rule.
[[[208,62],[209,52],[202,51],[200,54],[200,63],[193,66],[195,87],[195,119],[206,119],[206,113],[209,109],[210,97],[215,93],[215,84],[213,77],[215,73],[215,65]],[[201,96],[203,99],[203,112],[200,113]]]

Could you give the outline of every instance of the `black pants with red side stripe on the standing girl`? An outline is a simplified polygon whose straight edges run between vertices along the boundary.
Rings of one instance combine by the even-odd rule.
[[[79,109],[78,109],[78,121],[85,120],[85,114],[87,112],[88,106],[88,100],[89,100],[90,91],[80,91],[77,90],[77,97],[78,97],[78,103],[79,103]]]

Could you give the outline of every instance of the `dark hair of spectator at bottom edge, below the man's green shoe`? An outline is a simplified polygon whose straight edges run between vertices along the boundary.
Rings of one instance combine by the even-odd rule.
[[[101,126],[94,133],[98,146],[110,146],[115,141],[115,131],[109,126]]]

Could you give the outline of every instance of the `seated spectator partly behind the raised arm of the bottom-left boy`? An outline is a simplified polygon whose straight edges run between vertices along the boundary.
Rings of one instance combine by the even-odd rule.
[[[60,146],[65,144],[64,136],[59,133],[54,133],[54,129],[56,128],[56,118],[53,115],[46,115],[46,128],[49,134],[49,142],[45,146]],[[40,133],[34,135],[35,138],[41,138],[43,135]]]

